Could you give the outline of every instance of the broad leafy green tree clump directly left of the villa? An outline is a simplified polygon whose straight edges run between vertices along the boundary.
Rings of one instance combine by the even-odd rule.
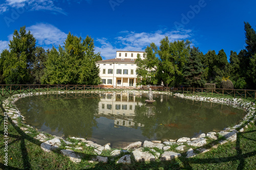
[[[94,53],[94,40],[89,36],[82,40],[69,33],[64,44],[58,51],[53,47],[49,52],[41,81],[48,84],[99,84],[99,68],[95,61],[101,57]]]

